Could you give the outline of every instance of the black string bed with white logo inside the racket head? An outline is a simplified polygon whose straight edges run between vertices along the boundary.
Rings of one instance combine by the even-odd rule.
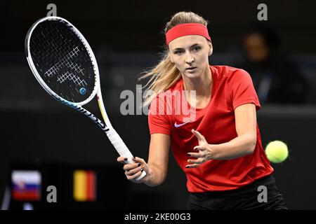
[[[96,71],[81,38],[62,20],[46,20],[30,38],[34,65],[46,85],[63,99],[83,102],[96,87]]]

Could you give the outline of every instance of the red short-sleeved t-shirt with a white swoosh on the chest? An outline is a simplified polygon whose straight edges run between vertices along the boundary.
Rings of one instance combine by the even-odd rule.
[[[178,109],[179,101],[190,106],[182,94],[180,98],[173,94],[182,92],[181,78],[152,101],[148,114],[150,134],[170,135],[173,155],[187,176],[190,193],[237,189],[273,172],[263,150],[258,125],[256,148],[251,155],[233,160],[208,160],[199,167],[185,168],[187,153],[194,152],[194,146],[198,145],[192,129],[200,132],[209,144],[223,144],[237,137],[234,113],[237,106],[251,103],[256,105],[257,111],[261,108],[249,73],[230,66],[210,66],[210,69],[211,100],[204,109],[196,109],[193,116],[185,109]]]

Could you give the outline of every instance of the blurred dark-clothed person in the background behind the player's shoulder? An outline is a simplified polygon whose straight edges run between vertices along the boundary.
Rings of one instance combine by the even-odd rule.
[[[273,29],[257,26],[244,36],[243,47],[244,59],[236,66],[251,74],[261,104],[305,103],[305,78],[282,50]]]

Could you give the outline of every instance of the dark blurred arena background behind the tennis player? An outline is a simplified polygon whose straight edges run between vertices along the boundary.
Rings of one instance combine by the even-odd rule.
[[[209,20],[214,48],[210,64],[233,66],[241,54],[242,37],[258,22],[258,3],[266,3],[268,21],[261,23],[277,30],[284,50],[298,62],[311,90],[316,87],[315,1],[1,2],[0,199],[10,170],[17,164],[45,170],[53,167],[53,175],[60,175],[55,179],[58,183],[75,167],[91,167],[98,170],[101,180],[98,191],[103,203],[95,207],[109,208],[119,200],[121,204],[113,204],[114,208],[185,209],[185,175],[172,153],[169,175],[162,186],[129,183],[105,134],[81,114],[55,102],[35,80],[24,54],[25,35],[35,21],[46,16],[48,3],[55,3],[57,15],[72,22],[87,38],[98,60],[112,125],[133,154],[145,160],[150,138],[147,116],[122,116],[119,107],[124,99],[119,95],[122,90],[136,92],[136,76],[158,62],[164,25],[180,10],[192,10]],[[272,164],[289,209],[316,209],[315,99],[314,90],[304,105],[263,105],[258,111],[263,146],[275,139],[289,146],[289,159]],[[100,117],[96,102],[88,109]],[[124,181],[115,181],[113,174]],[[89,204],[77,206],[93,208]]]

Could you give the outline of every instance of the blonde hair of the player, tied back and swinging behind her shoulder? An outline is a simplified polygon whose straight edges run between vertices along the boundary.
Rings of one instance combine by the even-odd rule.
[[[171,20],[166,23],[164,28],[164,34],[166,34],[169,29],[180,25],[183,23],[200,23],[207,26],[208,22],[204,20],[200,15],[197,15],[192,12],[179,12],[173,15]],[[143,106],[147,106],[152,102],[159,92],[168,90],[170,87],[175,85],[178,80],[181,78],[180,71],[176,66],[171,62],[169,49],[166,46],[164,52],[162,53],[162,59],[160,62],[154,66],[154,68],[149,71],[141,73],[141,76],[138,80],[144,78],[149,78],[147,84],[143,87],[147,91],[145,94],[145,100]]]

